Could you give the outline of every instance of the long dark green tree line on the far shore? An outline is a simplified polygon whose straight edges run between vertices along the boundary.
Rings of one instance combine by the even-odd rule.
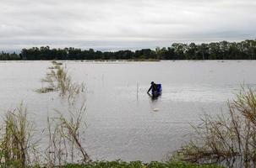
[[[49,46],[21,50],[20,54],[0,53],[0,60],[256,60],[256,39],[242,42],[210,44],[174,43],[155,50],[81,50],[76,48],[50,49]]]

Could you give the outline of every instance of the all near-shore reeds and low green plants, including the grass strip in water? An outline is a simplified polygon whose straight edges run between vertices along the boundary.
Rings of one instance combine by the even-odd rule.
[[[46,128],[38,137],[25,105],[8,110],[0,125],[1,167],[63,168],[221,168],[256,166],[256,94],[242,88],[237,98],[228,102],[229,110],[217,116],[205,114],[193,126],[193,138],[166,161],[91,160],[84,148],[86,130],[85,101],[81,100],[84,84],[74,83],[61,62],[52,61],[50,73],[42,81],[67,102],[67,112],[54,109],[54,117],[46,118]],[[52,72],[53,71],[53,72]],[[50,74],[50,76],[48,75]],[[53,75],[52,75],[53,74]],[[72,87],[79,86],[79,87]],[[72,95],[72,96],[70,96]],[[50,96],[50,95],[49,95]],[[72,98],[70,98],[72,97]],[[35,138],[35,134],[37,134]],[[46,139],[46,146],[41,139]],[[170,142],[172,143],[172,142]]]

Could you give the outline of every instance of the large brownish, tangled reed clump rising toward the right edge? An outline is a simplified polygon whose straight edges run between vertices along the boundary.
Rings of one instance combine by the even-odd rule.
[[[237,98],[228,102],[228,107],[228,113],[216,117],[205,114],[199,125],[193,125],[193,139],[178,150],[172,159],[255,167],[255,91],[242,88]]]

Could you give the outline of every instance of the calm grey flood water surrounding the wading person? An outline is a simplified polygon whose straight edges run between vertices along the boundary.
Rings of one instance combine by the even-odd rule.
[[[66,113],[54,93],[39,94],[50,61],[0,61],[0,110],[24,102],[36,129],[54,109]],[[256,61],[160,62],[64,61],[74,81],[85,84],[84,146],[93,160],[161,160],[178,150],[204,113],[226,111],[242,84],[256,85]],[[146,93],[161,83],[161,97]]]

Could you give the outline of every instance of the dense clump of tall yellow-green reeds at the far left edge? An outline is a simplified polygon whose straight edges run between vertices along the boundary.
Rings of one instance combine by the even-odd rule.
[[[27,120],[22,104],[5,114],[0,137],[1,166],[25,167],[30,163],[37,144],[32,141],[33,132],[33,123]]]

